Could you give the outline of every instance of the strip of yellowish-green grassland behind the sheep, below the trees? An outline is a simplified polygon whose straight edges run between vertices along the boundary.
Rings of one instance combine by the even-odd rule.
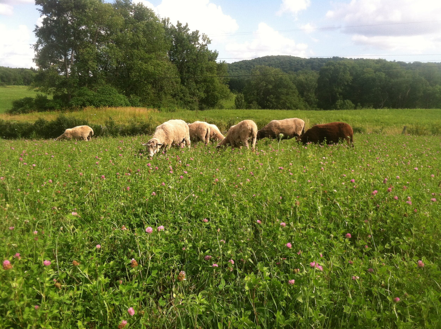
[[[60,114],[67,117],[82,118],[88,122],[105,125],[112,117],[117,123],[127,123],[129,120],[149,120],[156,125],[169,119],[183,119],[186,122],[196,120],[214,123],[221,130],[244,119],[254,120],[258,127],[265,126],[269,121],[283,118],[302,118],[306,128],[316,123],[342,121],[349,123],[355,133],[386,133],[399,134],[407,126],[407,133],[416,135],[441,134],[440,109],[366,109],[340,111],[281,111],[281,110],[206,110],[161,112],[143,107],[121,108],[86,108],[78,112],[40,112],[24,115],[0,114],[0,119],[7,121],[34,122],[38,118],[54,120]]]

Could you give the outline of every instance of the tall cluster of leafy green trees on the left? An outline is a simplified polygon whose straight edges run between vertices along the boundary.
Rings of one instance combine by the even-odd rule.
[[[225,63],[187,24],[130,0],[36,0],[34,86],[43,108],[149,106],[204,109],[231,97]],[[103,96],[104,95],[104,96]],[[41,104],[40,104],[41,105]]]

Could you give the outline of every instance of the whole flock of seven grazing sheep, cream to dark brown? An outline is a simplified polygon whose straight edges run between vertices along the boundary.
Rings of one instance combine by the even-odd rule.
[[[191,140],[202,140],[206,144],[209,140],[217,141],[217,148],[250,148],[254,152],[256,140],[268,137],[277,139],[289,139],[296,137],[303,144],[306,143],[338,143],[339,140],[347,140],[353,146],[353,131],[351,126],[344,122],[331,122],[312,126],[305,131],[305,122],[299,118],[289,118],[283,120],[272,120],[265,127],[258,130],[253,120],[243,120],[237,125],[228,129],[224,136],[217,126],[207,122],[195,121],[186,123],[183,120],[173,119],[164,122],[156,127],[152,138],[146,143],[147,153],[153,157],[161,148],[167,152],[173,145],[183,148],[187,145],[190,148]],[[66,129],[64,133],[56,138],[90,140],[93,130],[89,126],[77,126]]]

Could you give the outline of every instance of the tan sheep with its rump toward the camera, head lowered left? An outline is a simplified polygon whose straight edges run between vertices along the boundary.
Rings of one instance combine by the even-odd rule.
[[[228,144],[231,145],[232,148],[236,146],[242,148],[240,144],[245,145],[246,148],[250,148],[248,146],[248,140],[251,140],[251,151],[254,152],[256,147],[256,135],[256,123],[253,120],[243,120],[228,129],[227,136],[217,143],[216,148],[226,147]]]

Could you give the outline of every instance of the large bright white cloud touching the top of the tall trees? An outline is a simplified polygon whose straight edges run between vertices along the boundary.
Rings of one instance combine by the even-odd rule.
[[[201,34],[221,35],[235,32],[239,28],[235,19],[225,15],[221,6],[212,4],[209,0],[193,0],[191,5],[188,1],[162,0],[156,7],[146,0],[134,2],[153,9],[161,18],[170,18],[173,25],[177,21],[188,23],[190,30],[199,30]]]

